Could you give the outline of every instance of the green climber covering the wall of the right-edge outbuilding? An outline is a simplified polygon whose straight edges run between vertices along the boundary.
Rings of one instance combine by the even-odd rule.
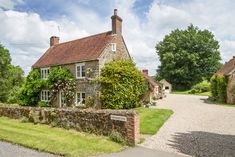
[[[227,99],[228,79],[222,75],[215,75],[211,78],[212,98],[218,102],[225,103]]]

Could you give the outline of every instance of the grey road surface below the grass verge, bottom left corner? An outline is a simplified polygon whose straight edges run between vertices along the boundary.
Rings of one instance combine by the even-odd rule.
[[[0,157],[56,157],[56,156],[0,141]]]

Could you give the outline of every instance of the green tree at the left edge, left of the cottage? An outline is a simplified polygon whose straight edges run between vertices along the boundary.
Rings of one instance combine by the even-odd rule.
[[[15,103],[17,91],[23,84],[24,71],[11,64],[9,51],[0,45],[0,102]]]

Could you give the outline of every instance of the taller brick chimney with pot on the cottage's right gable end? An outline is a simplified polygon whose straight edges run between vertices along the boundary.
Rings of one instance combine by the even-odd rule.
[[[122,34],[122,19],[117,15],[117,9],[114,9],[112,19],[112,33]]]

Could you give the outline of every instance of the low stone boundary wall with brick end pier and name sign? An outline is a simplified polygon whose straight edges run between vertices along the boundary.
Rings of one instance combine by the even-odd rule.
[[[139,114],[133,110],[80,110],[39,107],[0,107],[0,116],[29,118],[34,123],[50,124],[66,129],[110,135],[119,132],[130,144],[140,140]]]

